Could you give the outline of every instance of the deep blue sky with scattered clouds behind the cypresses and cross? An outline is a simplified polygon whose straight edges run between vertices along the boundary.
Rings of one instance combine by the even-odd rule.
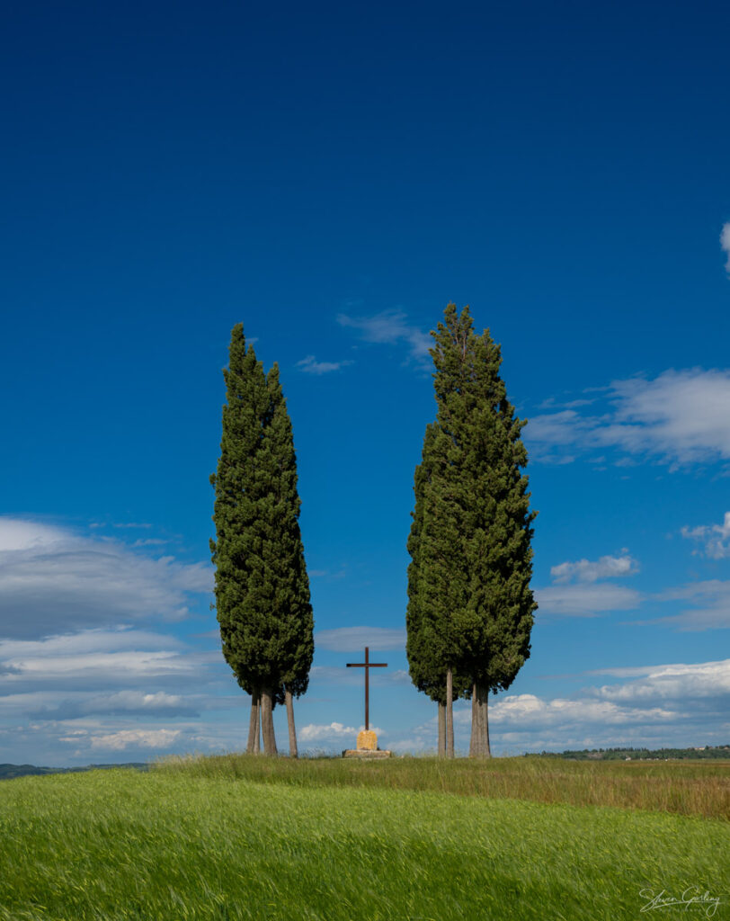
[[[244,744],[207,549],[238,321],[294,425],[300,746],[352,745],[367,642],[381,746],[434,748],[405,543],[452,300],[503,346],[539,510],[494,750],[730,741],[728,26],[721,4],[9,14],[0,761]]]

